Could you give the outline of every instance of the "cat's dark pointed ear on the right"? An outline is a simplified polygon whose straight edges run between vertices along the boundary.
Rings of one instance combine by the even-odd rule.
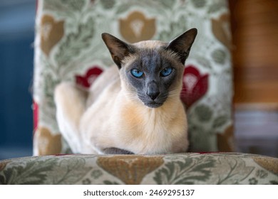
[[[182,64],[185,64],[185,60],[189,55],[191,45],[194,42],[196,36],[197,36],[197,29],[192,28],[189,31],[182,33],[173,41],[170,41],[166,49],[172,50],[175,53],[177,53],[177,55],[179,55],[180,62]]]

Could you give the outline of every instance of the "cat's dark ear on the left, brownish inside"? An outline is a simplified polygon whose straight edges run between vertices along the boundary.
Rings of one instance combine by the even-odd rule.
[[[128,45],[128,43],[120,41],[120,39],[108,33],[102,33],[101,37],[103,38],[105,45],[110,51],[114,63],[118,65],[118,68],[121,68],[123,59],[126,56],[130,55],[130,53],[134,53],[133,48]]]

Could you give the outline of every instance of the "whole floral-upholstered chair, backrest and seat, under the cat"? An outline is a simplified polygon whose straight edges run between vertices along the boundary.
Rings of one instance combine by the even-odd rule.
[[[182,102],[185,154],[71,154],[59,133],[53,89],[93,84],[112,65],[101,33],[135,43],[168,41],[195,27]],[[0,161],[3,184],[277,184],[278,159],[235,150],[226,1],[38,1],[34,57],[34,156]],[[220,152],[221,151],[221,152]]]

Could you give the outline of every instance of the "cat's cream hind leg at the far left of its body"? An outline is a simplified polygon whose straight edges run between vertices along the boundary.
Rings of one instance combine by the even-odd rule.
[[[73,153],[82,152],[79,123],[86,109],[86,99],[87,92],[69,82],[62,82],[55,89],[54,100],[58,127]]]

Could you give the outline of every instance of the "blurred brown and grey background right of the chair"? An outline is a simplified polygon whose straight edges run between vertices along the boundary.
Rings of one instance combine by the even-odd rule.
[[[230,0],[237,150],[278,157],[278,1]]]

